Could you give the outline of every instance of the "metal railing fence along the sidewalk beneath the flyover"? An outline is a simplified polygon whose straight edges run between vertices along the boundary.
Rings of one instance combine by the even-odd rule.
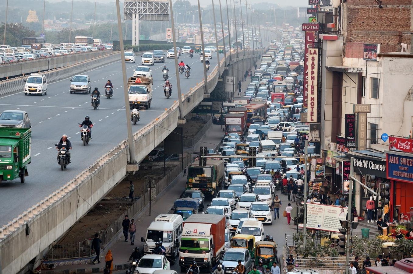
[[[184,154],[182,161],[176,165],[165,177],[160,181],[155,182],[155,191],[152,191],[152,200],[155,195],[158,195],[163,191],[179,174],[183,168],[192,162],[192,153]],[[118,217],[116,221],[107,227],[100,239],[102,240],[102,246],[106,245],[112,238],[114,238],[122,229],[122,221],[124,216],[135,216],[138,214],[150,201],[149,189],[137,200],[131,207]],[[53,245],[52,250],[47,254],[47,260],[68,260],[74,258],[87,258],[95,254],[90,250],[90,239],[83,240],[81,242],[72,243],[56,243]]]

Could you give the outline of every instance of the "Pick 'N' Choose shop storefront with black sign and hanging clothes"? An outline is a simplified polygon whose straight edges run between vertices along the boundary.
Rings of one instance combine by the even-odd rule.
[[[370,189],[373,189],[379,196],[375,197],[367,189],[364,189],[360,184],[354,184],[354,201],[358,216],[367,220],[366,203],[373,196],[374,212],[373,220],[377,220],[383,214],[385,204],[389,206],[389,214],[385,217],[392,221],[394,208],[393,191],[394,186],[387,179],[386,173],[386,154],[374,149],[366,149],[362,151],[351,151],[347,153],[349,158],[354,158],[354,177],[365,184]],[[386,191],[388,194],[386,194]]]

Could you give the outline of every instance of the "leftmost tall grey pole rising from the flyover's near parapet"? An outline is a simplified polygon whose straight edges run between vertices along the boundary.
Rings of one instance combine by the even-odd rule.
[[[95,2],[96,6],[96,2]],[[126,76],[126,64],[125,64],[125,48],[123,47],[123,35],[122,35],[122,21],[121,21],[121,8],[119,0],[116,0],[116,12],[118,17],[118,32],[119,32],[119,46],[121,48],[121,64],[123,75],[123,97],[125,99],[125,115],[126,115],[126,127],[128,129],[128,146],[129,146],[129,163],[136,163],[135,158],[135,143],[133,142],[131,117],[129,116],[129,94],[128,94],[128,79]]]

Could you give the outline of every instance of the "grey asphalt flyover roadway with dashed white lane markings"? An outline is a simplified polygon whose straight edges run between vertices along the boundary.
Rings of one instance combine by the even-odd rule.
[[[166,55],[165,55],[166,57]],[[221,54],[221,57],[223,55]],[[128,77],[133,75],[133,69],[140,65],[126,64]],[[153,99],[151,108],[140,111],[140,121],[133,126],[137,131],[142,126],[154,120],[165,108],[169,108],[178,100],[174,59],[166,59],[169,68],[169,80],[173,85],[173,93],[169,99],[164,97],[164,80],[162,68],[164,64],[155,63],[150,66],[153,71]],[[183,60],[191,66],[191,76],[186,79],[180,75],[181,92],[186,93],[204,78],[199,54],[190,59],[188,54],[181,55],[177,61]],[[211,68],[217,64],[216,54],[212,56]],[[210,70],[212,71],[212,69]],[[0,183],[0,226],[7,224],[13,218],[35,205],[66,182],[76,177],[83,169],[94,163],[114,146],[126,139],[125,101],[123,97],[121,62],[117,61],[84,73],[90,76],[92,89],[98,87],[104,93],[104,83],[111,80],[114,85],[114,96],[111,99],[100,98],[100,108],[93,110],[90,105],[90,95],[70,94],[70,78],[51,83],[47,95],[28,95],[23,92],[1,97],[0,111],[20,109],[28,112],[32,125],[31,164],[28,165],[26,182],[19,180],[2,181]],[[22,86],[23,89],[23,86]],[[129,107],[126,108],[128,115]],[[84,117],[90,116],[94,123],[92,140],[83,146],[79,135],[78,123]],[[57,165],[57,151],[54,144],[60,137],[67,134],[72,143],[71,163],[62,171]]]

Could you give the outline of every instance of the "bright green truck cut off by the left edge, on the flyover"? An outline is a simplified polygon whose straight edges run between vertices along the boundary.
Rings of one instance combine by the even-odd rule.
[[[24,183],[31,163],[31,129],[0,127],[0,182],[20,178]]]

